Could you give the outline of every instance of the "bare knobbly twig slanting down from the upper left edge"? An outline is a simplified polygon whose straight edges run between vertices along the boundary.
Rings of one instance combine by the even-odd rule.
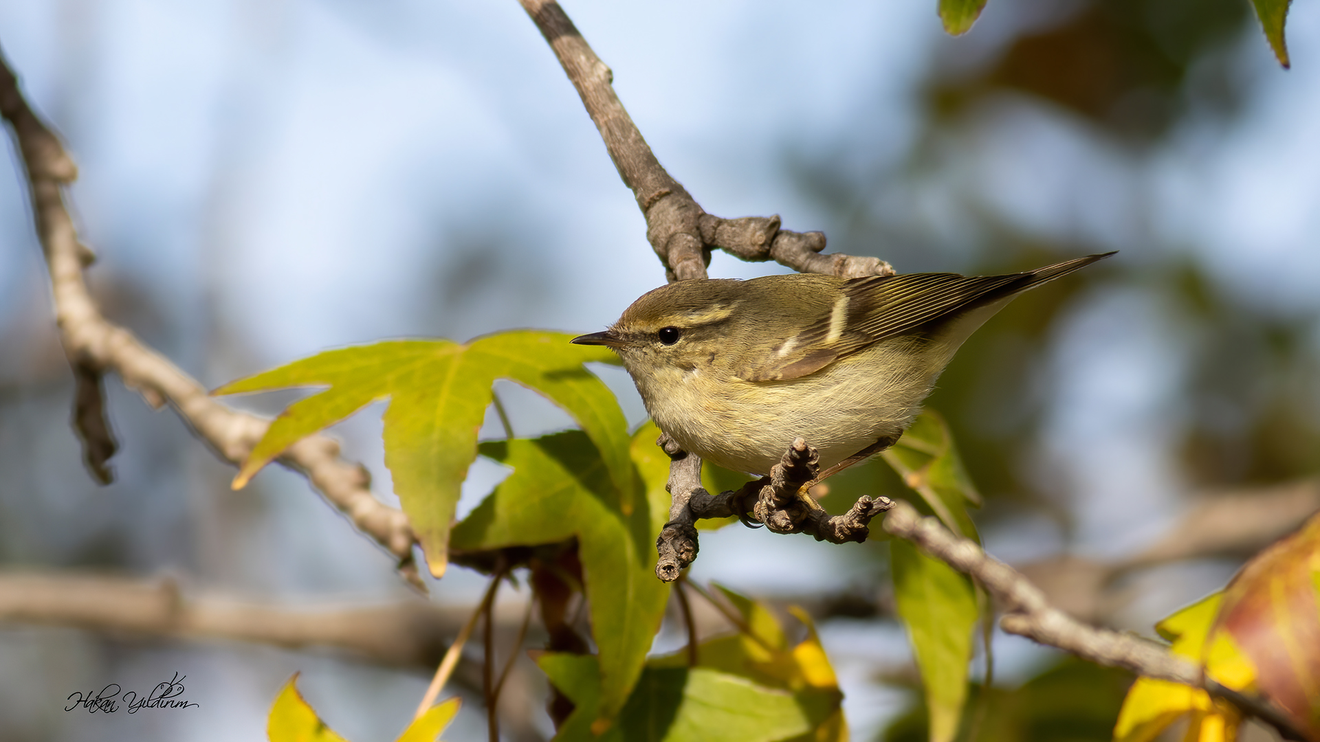
[[[78,379],[75,428],[83,438],[84,458],[94,475],[98,481],[108,481],[106,461],[115,450],[99,391],[100,375],[106,371],[119,374],[124,384],[152,407],[168,403],[220,458],[242,463],[269,422],[219,404],[193,378],[124,327],[107,321],[96,308],[83,280],[83,268],[92,255],[78,240],[63,202],[63,187],[74,181],[77,168],[55,135],[24,100],[18,81],[3,57],[0,114],[22,153],[37,238],[50,269],[59,339]],[[413,561],[416,536],[408,516],[372,496],[366,469],[339,458],[338,442],[327,436],[310,436],[290,446],[279,461],[304,474],[359,531],[395,556],[400,572],[413,586],[425,590]]]

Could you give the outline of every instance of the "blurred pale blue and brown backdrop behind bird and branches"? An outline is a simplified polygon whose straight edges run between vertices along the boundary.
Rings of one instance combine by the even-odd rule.
[[[942,34],[933,0],[565,9],[713,214],[777,213],[900,272],[1121,250],[1002,312],[928,404],[986,498],[987,548],[1060,605],[1150,635],[1320,507],[1315,4],[1288,20],[1291,71],[1247,0],[991,0],[961,38]],[[512,0],[0,0],[0,45],[79,165],[71,207],[100,257],[90,279],[104,313],[207,387],[387,337],[594,331],[664,280],[631,194]],[[94,485],[7,152],[0,568],[168,578],[185,595],[294,607],[414,599],[302,478],[271,469],[230,491],[234,471],[116,378],[116,481]],[[711,263],[713,276],[777,271]],[[601,374],[639,421],[627,378]],[[520,434],[565,424],[535,395],[502,393]],[[273,413],[290,399],[235,404]],[[391,499],[379,408],[334,433]],[[475,466],[461,514],[502,475]],[[854,479],[867,477],[896,486],[874,470]],[[1222,525],[1214,514],[1276,518],[1189,547],[1189,533],[1213,536],[1204,523]],[[854,737],[919,739],[886,555],[734,527],[702,537],[692,576],[809,606]],[[430,601],[466,611],[482,586],[454,569]],[[656,651],[681,642],[667,626]],[[1109,738],[1122,673],[1002,634],[993,647],[986,693],[1001,702],[982,738]],[[983,664],[982,652],[974,672]],[[11,622],[0,739],[257,739],[300,669],[309,701],[354,741],[393,739],[430,672]],[[75,691],[148,689],[174,672],[199,708],[63,710]],[[537,683],[523,672],[525,696],[506,698],[525,706],[510,739],[552,734]],[[463,692],[446,738],[483,739],[479,694]]]

